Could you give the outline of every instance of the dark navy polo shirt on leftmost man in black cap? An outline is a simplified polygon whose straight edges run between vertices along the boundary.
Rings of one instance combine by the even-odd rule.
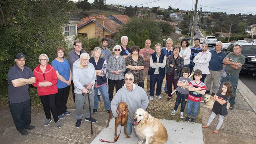
[[[19,66],[15,65],[9,70],[7,77],[9,83],[8,101],[11,103],[21,103],[28,100],[30,98],[28,91],[29,85],[27,84],[22,87],[14,87],[11,81],[19,78],[29,79],[34,77],[32,70],[28,66],[24,66],[22,71]]]

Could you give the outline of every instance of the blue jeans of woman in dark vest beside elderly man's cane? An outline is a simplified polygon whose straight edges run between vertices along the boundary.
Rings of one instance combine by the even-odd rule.
[[[93,109],[98,109],[98,90],[100,90],[100,93],[102,95],[103,101],[104,101],[104,107],[106,110],[110,109],[110,101],[109,101],[109,96],[108,96],[108,85],[103,85],[101,87],[95,88],[94,87],[94,108]]]

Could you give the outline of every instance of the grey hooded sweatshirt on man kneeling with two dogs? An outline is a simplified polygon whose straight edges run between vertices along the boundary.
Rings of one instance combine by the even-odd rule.
[[[148,96],[145,90],[134,83],[132,85],[134,89],[129,91],[124,84],[111,101],[111,111],[115,117],[118,117],[117,107],[120,102],[125,102],[128,105],[128,122],[131,124],[134,123],[135,111],[139,108],[146,110],[148,107]]]

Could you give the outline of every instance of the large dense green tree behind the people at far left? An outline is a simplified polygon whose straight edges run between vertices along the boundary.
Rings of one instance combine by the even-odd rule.
[[[56,57],[56,48],[67,50],[63,25],[69,21],[68,13],[75,8],[69,0],[5,0],[0,1],[4,22],[0,24],[0,90],[7,93],[7,72],[15,55],[26,55],[26,66],[32,70],[38,65],[38,57],[45,53],[50,61]],[[49,62],[50,63],[50,62]],[[32,89],[36,94],[36,90]],[[38,100],[38,96],[31,100]],[[39,102],[40,100],[38,100]]]

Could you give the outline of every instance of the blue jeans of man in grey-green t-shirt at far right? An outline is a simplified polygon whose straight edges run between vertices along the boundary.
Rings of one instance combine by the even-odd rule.
[[[238,85],[238,78],[239,76],[235,76],[235,75],[227,75],[226,78],[223,78],[222,79],[222,82],[221,83],[224,83],[226,81],[229,81],[232,85],[233,85],[233,98],[230,98],[230,104],[231,105],[234,105],[236,103],[235,101],[235,98],[236,98],[236,88],[237,88],[237,85]]]

